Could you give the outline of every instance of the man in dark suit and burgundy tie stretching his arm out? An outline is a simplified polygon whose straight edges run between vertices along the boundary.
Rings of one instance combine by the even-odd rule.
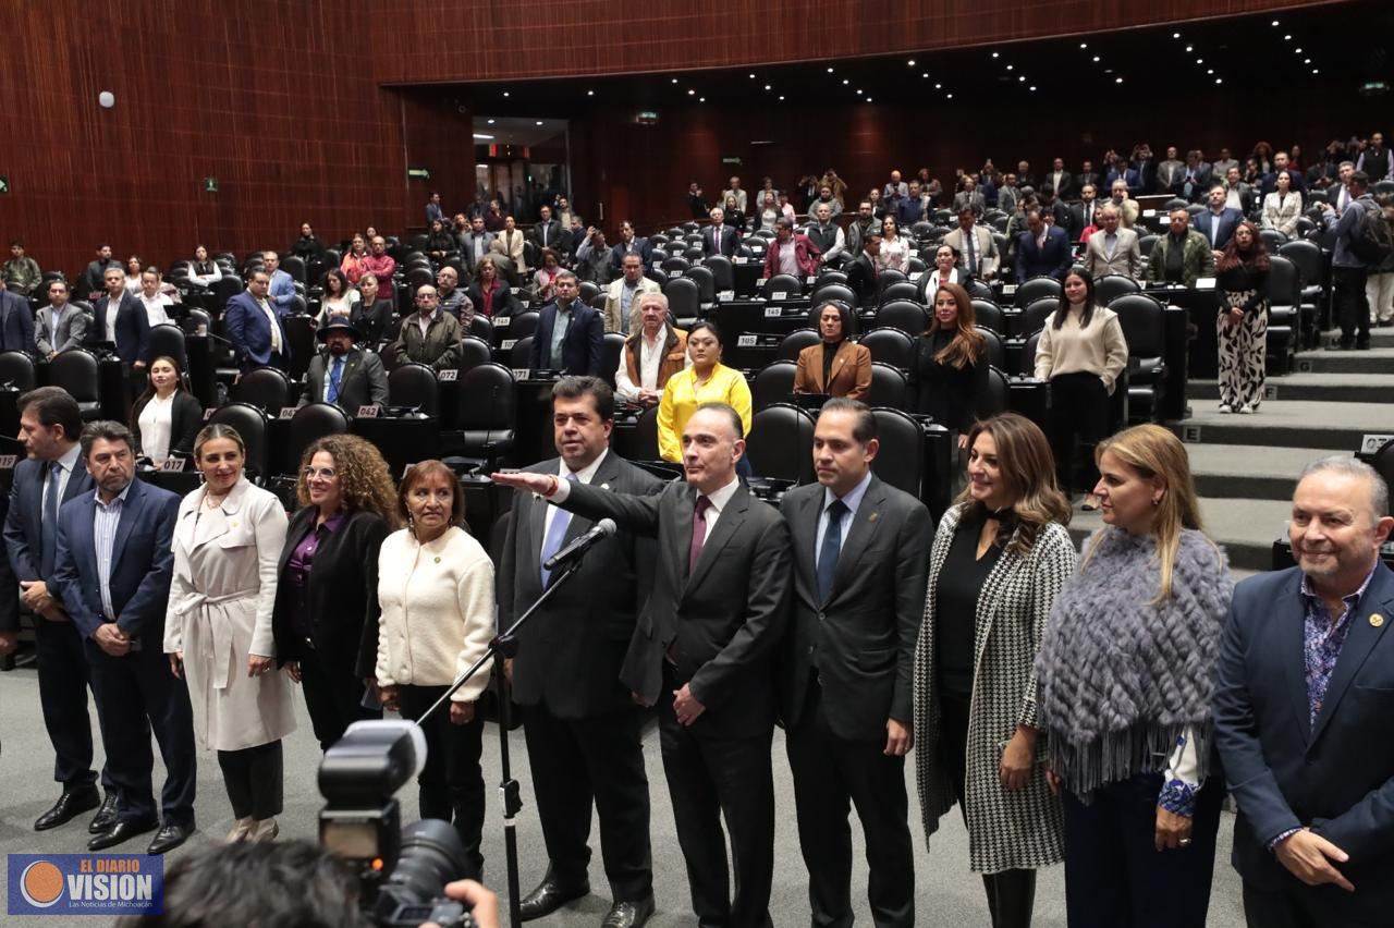
[[[664,771],[698,924],[758,928],[771,924],[772,656],[783,637],[792,567],[783,518],[736,477],[744,451],[740,417],[708,403],[683,429],[687,481],[659,496],[611,493],[556,475],[500,472],[493,479],[658,538],[654,594],[622,680],[637,699],[658,704]]]

